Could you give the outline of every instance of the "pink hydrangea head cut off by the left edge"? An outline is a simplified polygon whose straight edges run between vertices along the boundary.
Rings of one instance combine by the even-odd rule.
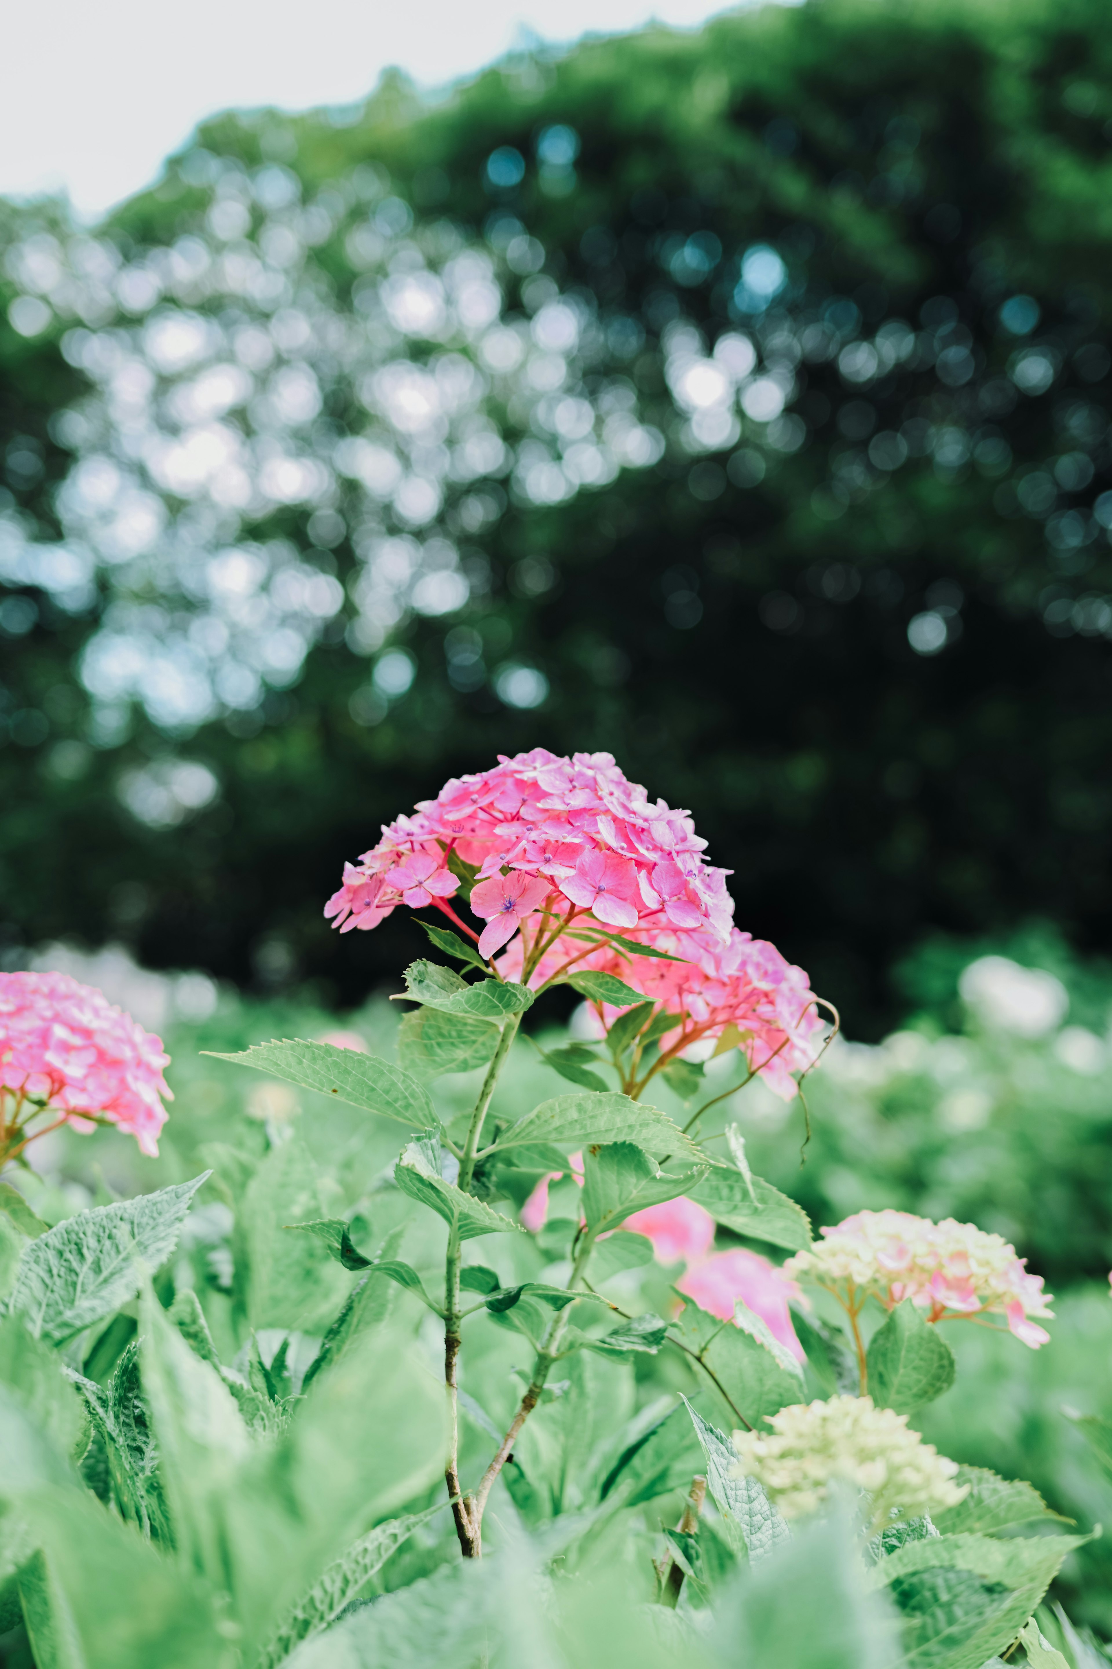
[[[0,973],[0,1088],[17,1100],[8,1123],[27,1117],[18,1102],[30,1097],[78,1130],[82,1115],[110,1118],[153,1157],[168,1063],[162,1038],[68,973]]]

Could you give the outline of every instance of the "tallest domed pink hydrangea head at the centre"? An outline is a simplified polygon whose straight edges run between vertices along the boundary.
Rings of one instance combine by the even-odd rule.
[[[455,853],[478,870],[472,908],[488,923],[483,955],[542,905],[548,921],[577,911],[622,933],[699,930],[725,945],[734,905],[704,846],[685,811],[652,803],[609,753],[569,759],[533,748],[447,783],[383,828],[358,865],[345,865],[325,916],[348,933],[378,926],[397,905],[453,915]]]

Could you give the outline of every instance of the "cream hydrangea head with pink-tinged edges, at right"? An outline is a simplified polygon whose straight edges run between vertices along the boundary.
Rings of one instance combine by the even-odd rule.
[[[1042,1277],[1000,1235],[947,1217],[932,1223],[910,1212],[855,1212],[824,1240],[797,1252],[785,1268],[825,1287],[850,1314],[867,1297],[892,1310],[910,1298],[929,1322],[962,1315],[1005,1315],[1010,1332],[1037,1350],[1050,1335],[1030,1320],[1052,1315]]]

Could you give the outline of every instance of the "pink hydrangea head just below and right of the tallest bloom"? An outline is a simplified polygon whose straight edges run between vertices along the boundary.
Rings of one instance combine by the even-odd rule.
[[[710,933],[634,933],[675,961],[649,956],[622,958],[604,945],[579,963],[584,970],[612,973],[675,1015],[677,1030],[660,1038],[660,1050],[675,1053],[720,1038],[727,1028],[744,1050],[750,1070],[790,1100],[797,1093],[792,1073],[805,1071],[822,1048],[824,1021],[807,975],[787,961],[775,945],[730,928],[725,943]],[[542,985],[557,966],[550,951],[535,968],[530,985]],[[520,975],[522,958],[512,945],[498,963],[507,978]],[[610,1026],[620,1008],[604,1005]],[[599,1026],[602,1033],[602,1026]]]

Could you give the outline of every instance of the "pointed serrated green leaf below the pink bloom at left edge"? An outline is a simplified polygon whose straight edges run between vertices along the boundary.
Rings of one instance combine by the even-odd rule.
[[[178,1242],[190,1200],[210,1175],[78,1212],[20,1258],[8,1308],[27,1317],[37,1339],[65,1344],[133,1298],[143,1267],[160,1268]]]

